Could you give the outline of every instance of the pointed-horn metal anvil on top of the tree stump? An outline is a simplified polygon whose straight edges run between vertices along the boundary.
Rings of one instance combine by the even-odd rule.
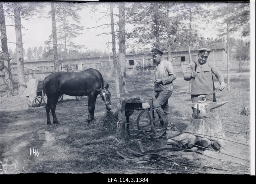
[[[198,104],[198,117],[197,118],[210,118],[210,117],[214,117],[214,114],[212,113],[212,109],[218,108],[224,104],[227,104],[228,101],[225,102],[204,102],[204,103],[192,103],[192,104],[188,104],[191,107],[194,107],[197,109],[197,104]]]

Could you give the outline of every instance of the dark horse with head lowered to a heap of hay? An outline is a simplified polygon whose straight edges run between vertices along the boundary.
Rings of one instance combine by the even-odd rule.
[[[87,122],[94,119],[94,109],[97,96],[100,94],[106,105],[111,110],[111,94],[108,84],[104,86],[101,73],[89,68],[81,72],[55,72],[44,79],[44,92],[47,95],[45,106],[47,125],[51,126],[50,110],[52,111],[53,124],[60,124],[56,118],[55,109],[61,94],[69,96],[88,96],[89,115]]]

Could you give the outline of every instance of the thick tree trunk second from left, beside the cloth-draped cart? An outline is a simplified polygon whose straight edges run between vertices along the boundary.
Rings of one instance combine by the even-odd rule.
[[[26,89],[25,75],[24,75],[24,58],[21,34],[21,21],[20,21],[20,6],[19,3],[14,3],[14,24],[16,34],[16,54],[17,54],[17,74],[19,80],[19,96],[23,95]]]

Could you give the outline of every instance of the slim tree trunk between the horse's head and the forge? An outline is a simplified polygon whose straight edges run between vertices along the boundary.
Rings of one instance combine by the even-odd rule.
[[[115,38],[115,30],[114,30],[114,18],[113,18],[113,6],[110,4],[110,20],[111,20],[111,34],[112,34],[112,52],[113,52],[113,62],[115,68],[115,79],[116,79],[116,99],[117,99],[117,113],[118,113],[118,121],[122,120],[121,114],[121,96],[120,96],[120,88],[119,88],[119,76],[120,76],[120,65],[116,58],[116,38]]]

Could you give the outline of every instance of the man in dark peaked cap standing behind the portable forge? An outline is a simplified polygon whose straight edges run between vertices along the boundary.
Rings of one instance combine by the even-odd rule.
[[[163,53],[163,51],[156,48],[151,50],[153,62],[154,64],[156,64],[154,82],[156,101],[154,102],[154,107],[161,111],[164,111],[164,114],[166,115],[166,118],[168,120],[168,127],[171,127],[168,99],[172,95],[172,81],[176,79],[176,75],[174,73],[172,63],[162,57]]]

